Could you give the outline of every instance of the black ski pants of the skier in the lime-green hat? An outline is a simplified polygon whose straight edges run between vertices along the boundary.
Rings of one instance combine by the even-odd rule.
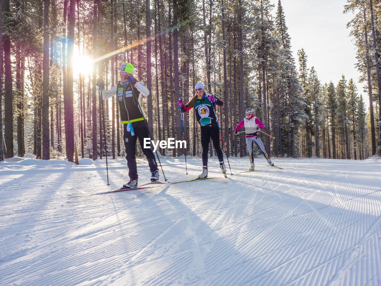
[[[133,133],[131,133],[131,125]],[[123,124],[123,141],[124,146],[126,147],[128,176],[130,176],[131,180],[134,180],[138,178],[138,170],[136,169],[135,158],[136,139],[139,138],[140,146],[144,155],[147,157],[149,169],[151,172],[157,170],[157,164],[155,155],[152,152],[151,148],[144,148],[144,138],[150,138],[147,120],[132,122],[131,125],[129,123]],[[149,140],[152,139],[150,138]],[[151,146],[151,144],[149,144],[149,146]]]

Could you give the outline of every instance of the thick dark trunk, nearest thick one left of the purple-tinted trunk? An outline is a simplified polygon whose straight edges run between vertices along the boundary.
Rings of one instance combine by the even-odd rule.
[[[43,43],[43,61],[42,61],[42,159],[50,159],[50,141],[49,141],[49,4],[50,0],[44,1],[44,43]],[[71,7],[70,2],[70,8]],[[73,11],[74,13],[74,11]],[[74,34],[74,27],[73,27]],[[74,42],[73,42],[74,43]]]

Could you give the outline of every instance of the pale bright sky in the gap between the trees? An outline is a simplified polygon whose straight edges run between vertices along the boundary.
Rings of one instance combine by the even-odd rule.
[[[278,0],[271,2],[275,4],[275,15]],[[346,27],[352,14],[343,14],[346,0],[281,0],[281,3],[298,68],[297,52],[304,48],[307,66],[315,67],[321,84],[332,81],[336,86],[342,74],[347,82],[353,78],[359,95],[362,94],[365,104],[369,106],[368,94],[363,92],[365,83],[358,82],[360,73],[355,67],[356,47],[349,37],[350,28]]]

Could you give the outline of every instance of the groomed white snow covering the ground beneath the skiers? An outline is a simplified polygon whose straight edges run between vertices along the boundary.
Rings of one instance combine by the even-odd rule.
[[[273,160],[78,198],[126,183],[125,159],[108,160],[110,186],[105,160],[0,162],[0,285],[381,285],[381,159]],[[171,182],[201,173],[161,162]]]

